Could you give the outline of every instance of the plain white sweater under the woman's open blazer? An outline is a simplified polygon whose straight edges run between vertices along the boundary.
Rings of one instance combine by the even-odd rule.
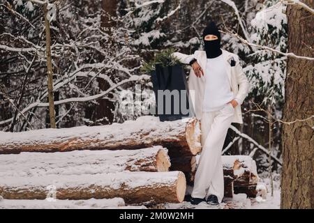
[[[205,92],[203,112],[221,109],[227,102],[234,99],[228,82],[223,54],[216,58],[207,59],[205,72]]]

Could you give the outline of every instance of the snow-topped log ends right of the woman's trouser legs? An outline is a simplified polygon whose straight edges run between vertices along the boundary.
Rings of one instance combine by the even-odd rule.
[[[225,179],[225,197],[244,193],[255,197],[258,183],[255,160],[248,155],[223,155],[223,173]]]

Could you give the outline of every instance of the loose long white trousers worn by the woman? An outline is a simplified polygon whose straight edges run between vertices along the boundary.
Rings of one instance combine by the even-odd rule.
[[[218,197],[219,203],[223,200],[224,184],[221,151],[233,116],[234,107],[231,103],[227,103],[214,112],[202,112],[202,152],[195,174],[192,197],[202,199],[214,194]]]

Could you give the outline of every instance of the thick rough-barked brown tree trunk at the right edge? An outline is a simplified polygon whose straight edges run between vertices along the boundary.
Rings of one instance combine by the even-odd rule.
[[[302,1],[314,8],[313,0]],[[314,57],[313,15],[295,5],[287,7],[288,52]],[[283,120],[313,116],[314,62],[287,60]],[[283,172],[281,208],[314,208],[313,118],[283,124]]]

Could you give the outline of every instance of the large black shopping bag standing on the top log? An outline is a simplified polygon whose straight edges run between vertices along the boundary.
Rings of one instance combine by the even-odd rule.
[[[160,121],[174,121],[190,116],[188,85],[181,65],[162,67],[151,72],[156,96],[156,115]]]

